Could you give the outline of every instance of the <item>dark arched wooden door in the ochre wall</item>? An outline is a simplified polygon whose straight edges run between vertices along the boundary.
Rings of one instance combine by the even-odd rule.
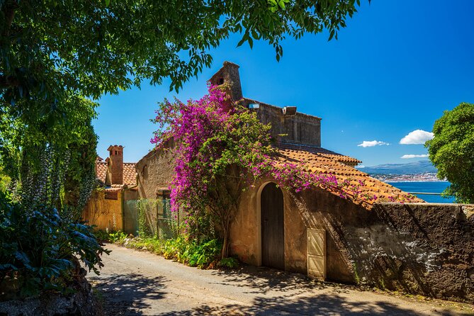
[[[285,270],[283,192],[276,184],[261,191],[261,264]]]

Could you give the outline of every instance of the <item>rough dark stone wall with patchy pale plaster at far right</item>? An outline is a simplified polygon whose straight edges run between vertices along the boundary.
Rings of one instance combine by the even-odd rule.
[[[387,288],[403,288],[439,298],[474,301],[474,205],[376,205],[377,222],[361,236],[373,264],[373,281],[383,275]]]

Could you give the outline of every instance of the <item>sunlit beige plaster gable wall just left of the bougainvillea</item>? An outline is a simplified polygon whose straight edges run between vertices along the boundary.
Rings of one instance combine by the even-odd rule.
[[[156,199],[160,191],[167,190],[173,176],[173,167],[169,150],[152,150],[140,159],[135,164],[140,198]]]

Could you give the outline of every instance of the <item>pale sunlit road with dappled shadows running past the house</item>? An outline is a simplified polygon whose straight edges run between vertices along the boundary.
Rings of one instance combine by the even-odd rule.
[[[397,297],[245,266],[200,270],[107,245],[89,274],[106,315],[473,315],[470,305]]]

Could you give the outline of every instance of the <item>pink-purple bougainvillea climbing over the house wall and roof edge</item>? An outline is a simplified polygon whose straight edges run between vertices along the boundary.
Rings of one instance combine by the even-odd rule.
[[[209,86],[207,95],[187,103],[165,100],[153,120],[159,128],[151,142],[162,149],[174,144],[171,208],[184,209],[188,225],[197,224],[199,218],[213,209],[221,226],[230,225],[232,215],[222,214],[231,211],[224,208],[237,208],[239,193],[262,176],[271,177],[279,186],[295,192],[319,186],[339,193],[342,198],[376,198],[361,195],[363,182],[338,181],[334,174],[307,172],[303,162],[285,162],[272,147],[271,126],[260,123],[256,114],[243,106],[229,107],[230,99],[223,90],[222,86]],[[226,186],[222,186],[222,181]],[[216,201],[216,197],[222,198],[221,193],[228,191],[238,192],[229,194],[227,202]]]

